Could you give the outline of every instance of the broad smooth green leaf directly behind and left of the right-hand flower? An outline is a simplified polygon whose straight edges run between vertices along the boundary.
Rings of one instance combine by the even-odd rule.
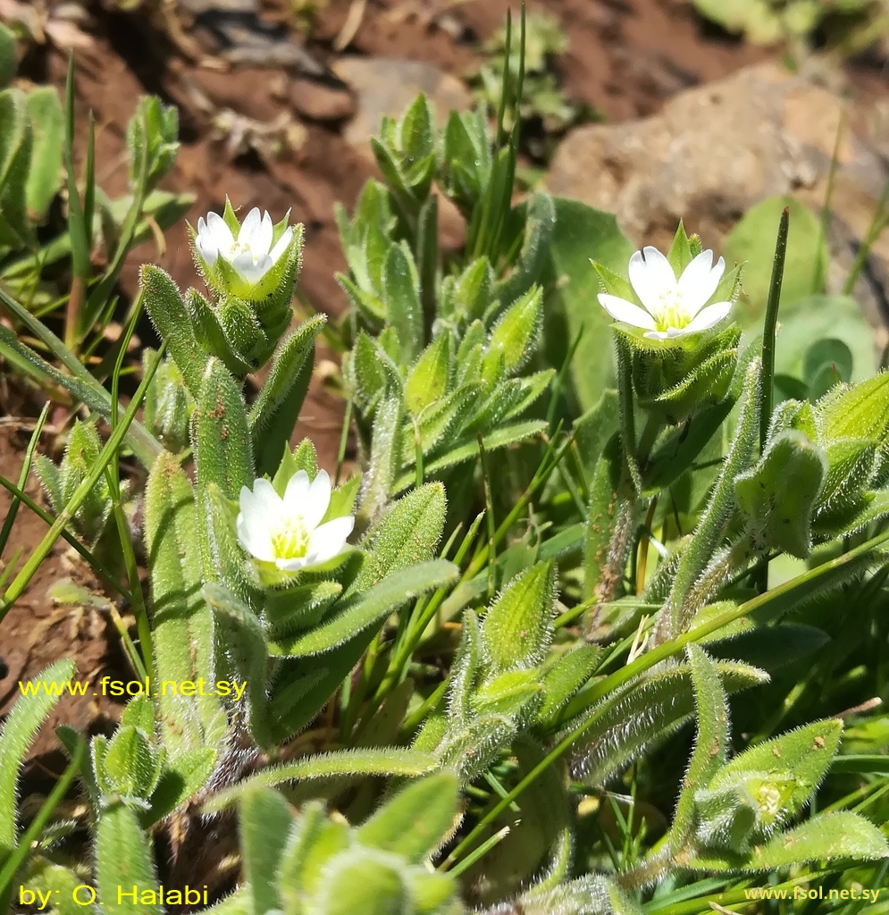
[[[608,331],[611,318],[595,300],[599,283],[590,260],[626,275],[633,247],[610,213],[576,200],[556,198],[554,202],[551,269],[543,284],[544,348],[548,361],[558,369],[580,335],[568,372],[576,414],[580,414],[592,407],[615,379]]]

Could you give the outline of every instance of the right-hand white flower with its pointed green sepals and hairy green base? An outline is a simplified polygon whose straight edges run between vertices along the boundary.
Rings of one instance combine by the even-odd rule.
[[[599,304],[615,319],[637,404],[679,424],[729,391],[741,328],[725,327],[740,291],[740,268],[725,272],[696,236],[679,231],[664,255],[646,247],[630,258],[627,276],[593,262],[604,291]]]

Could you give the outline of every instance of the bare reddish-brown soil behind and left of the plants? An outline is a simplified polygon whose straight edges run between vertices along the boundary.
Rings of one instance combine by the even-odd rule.
[[[308,45],[318,58],[331,58],[330,46],[347,20],[350,5],[348,0],[330,0],[321,12]],[[503,24],[509,6],[507,0],[370,0],[348,51],[419,59],[463,75],[477,66],[479,41]],[[289,8],[289,0],[268,0],[263,15],[286,21]],[[694,18],[691,6],[680,0],[529,0],[529,8],[559,16],[570,38],[570,48],[559,61],[569,97],[594,106],[611,121],[653,113],[670,94],[723,77],[763,56],[757,49],[709,33]],[[434,11],[438,11],[437,17],[431,17]],[[177,102],[182,149],[165,187],[197,195],[190,220],[196,221],[208,210],[220,210],[226,195],[242,211],[259,206],[270,210],[275,219],[291,209],[292,219],[303,221],[306,227],[300,294],[317,310],[331,316],[341,314],[344,296],[334,274],[345,264],[333,204],[338,199],[351,207],[371,166],[365,156],[348,147],[340,124],[336,120],[305,123],[305,143],[280,159],[255,153],[232,157],[211,138],[210,116],[195,102],[192,89],[198,86],[212,102],[236,113],[271,122],[289,111],[281,101],[288,96],[282,73],[244,69],[230,75],[198,70],[178,56],[160,32],[146,31],[145,19],[138,16],[111,16],[100,10],[90,32],[93,47],[79,51],[78,56],[77,118],[82,127],[88,110],[95,114],[102,187],[112,196],[126,188],[124,130],[137,96],[153,92]],[[66,60],[61,54],[32,52],[27,64],[35,79],[63,84]],[[121,280],[124,296],[134,293],[138,265],[147,260],[165,267],[180,285],[196,281],[184,225],[167,233],[166,251],[159,252],[149,243],[132,253]],[[149,336],[150,329],[143,332],[143,339],[153,342]],[[318,355],[333,358],[323,349]],[[0,392],[0,406],[7,413],[34,414],[33,404],[16,404],[17,400]],[[341,405],[320,383],[314,383],[295,437],[311,436],[322,463],[330,467],[341,422]],[[16,431],[11,425],[0,431],[0,472],[7,479],[16,479],[27,446],[27,429]],[[36,494],[37,490],[37,484],[29,482],[28,492]],[[0,518],[5,517],[8,506],[7,494],[0,490]],[[27,557],[45,532],[44,522],[23,510],[10,543],[21,546]],[[7,548],[6,561],[11,552]],[[81,679],[97,680],[104,673],[132,678],[107,619],[94,611],[75,619],[67,609],[51,605],[48,585],[72,575],[91,583],[80,566],[75,565],[72,572],[65,545],[57,544],[25,596],[3,621],[0,715],[14,701],[19,680],[34,677],[49,662],[72,653]],[[57,706],[53,720],[85,730],[102,727],[117,711],[102,696],[66,699]],[[44,728],[32,755],[46,754],[54,744],[52,731]],[[42,756],[35,763],[59,771],[58,758]]]

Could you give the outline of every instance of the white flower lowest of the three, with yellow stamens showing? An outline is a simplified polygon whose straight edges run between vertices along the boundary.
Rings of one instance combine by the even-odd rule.
[[[257,479],[252,490],[241,487],[238,540],[261,562],[283,571],[325,563],[346,546],[355,525],[351,515],[322,524],[329,504],[327,470],[319,470],[311,483],[305,470],[297,470],[287,482],[284,499],[267,479]]]

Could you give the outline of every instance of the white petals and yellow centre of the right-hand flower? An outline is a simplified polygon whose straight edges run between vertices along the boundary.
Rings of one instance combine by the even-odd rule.
[[[712,251],[702,251],[677,280],[667,258],[657,248],[637,251],[629,263],[629,281],[644,308],[619,296],[602,293],[599,304],[616,321],[648,331],[648,339],[681,337],[712,328],[732,310],[731,302],[704,307],[723,278],[725,261],[713,266]]]

